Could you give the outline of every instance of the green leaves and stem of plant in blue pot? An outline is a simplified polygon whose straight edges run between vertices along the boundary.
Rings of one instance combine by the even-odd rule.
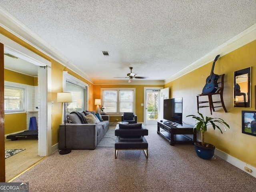
[[[226,131],[226,126],[229,128],[229,125],[226,122],[224,122],[224,120],[221,118],[212,118],[207,116],[204,118],[204,116],[201,113],[199,113],[199,115],[200,116],[188,115],[187,117],[191,116],[192,118],[196,119],[197,122],[194,126],[194,129],[196,129],[197,132],[201,131],[202,146],[205,146],[204,133],[207,131],[207,126],[212,125],[212,128],[214,130],[218,128],[221,133],[223,132],[220,126],[218,126],[217,124],[221,124],[222,126],[224,126],[224,131]]]

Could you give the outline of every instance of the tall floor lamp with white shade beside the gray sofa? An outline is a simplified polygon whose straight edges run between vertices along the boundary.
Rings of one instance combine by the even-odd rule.
[[[65,147],[60,150],[61,155],[65,155],[71,152],[71,149],[67,149],[66,146],[66,103],[72,102],[72,96],[70,92],[57,93],[57,102],[64,103],[64,127],[65,127]]]

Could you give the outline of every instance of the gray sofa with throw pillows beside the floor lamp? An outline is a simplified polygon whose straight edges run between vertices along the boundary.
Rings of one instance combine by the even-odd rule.
[[[68,149],[95,149],[109,129],[108,115],[102,115],[103,121],[97,124],[84,122],[82,116],[85,114],[83,113],[76,112],[67,116],[66,145]],[[64,149],[64,146],[65,127],[63,123],[59,129],[59,149]]]

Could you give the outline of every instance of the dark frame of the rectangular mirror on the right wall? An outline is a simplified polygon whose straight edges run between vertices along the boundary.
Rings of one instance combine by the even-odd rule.
[[[244,97],[248,97],[248,101],[246,102],[237,102],[236,101],[236,77],[241,76],[244,74],[248,74],[248,81],[247,81],[247,88],[248,93],[244,93]],[[242,96],[243,94],[240,94],[239,96]],[[251,107],[251,67],[245,68],[242,70],[238,70],[234,72],[234,107]]]

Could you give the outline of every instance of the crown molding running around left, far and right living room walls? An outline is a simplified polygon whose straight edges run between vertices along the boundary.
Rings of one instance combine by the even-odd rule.
[[[53,48],[50,44],[48,44],[46,41],[44,41],[40,36],[35,34],[32,30],[30,30],[28,27],[26,27],[24,24],[19,22],[16,18],[14,18],[11,14],[6,12],[2,7],[0,7],[0,26],[4,29],[6,29],[8,32],[14,34],[24,42],[30,44],[34,48],[38,49],[42,53],[46,54],[50,58],[56,60],[63,66],[67,67],[69,70],[75,72],[82,78],[85,78],[92,84],[128,84],[128,82],[125,81],[115,81],[115,80],[92,80],[88,74],[86,74],[83,70],[75,66],[68,58],[66,58],[63,54],[58,52],[55,48]],[[164,81],[143,81],[143,82],[132,82],[132,84],[167,84],[168,82],[171,82],[181,76],[184,76],[185,74],[188,74],[192,72],[193,70],[196,70],[197,68],[200,68],[201,66],[204,66],[205,64],[208,64],[209,62],[213,61],[215,56],[217,54],[220,54],[220,56],[223,56],[225,54],[228,54],[229,52],[232,52],[233,50],[236,50],[237,48],[240,48],[241,46],[244,46],[245,44],[248,44],[249,42],[252,42],[256,39],[256,24],[251,26],[250,28],[244,30],[234,38],[228,40],[224,44],[218,46],[216,49],[212,50],[202,58],[198,59],[196,62],[193,62],[183,70],[180,70],[180,72],[174,74],[173,76],[167,78]],[[107,83],[106,83],[107,82]],[[162,83],[163,82],[163,83]],[[131,83],[129,83],[131,84]]]

